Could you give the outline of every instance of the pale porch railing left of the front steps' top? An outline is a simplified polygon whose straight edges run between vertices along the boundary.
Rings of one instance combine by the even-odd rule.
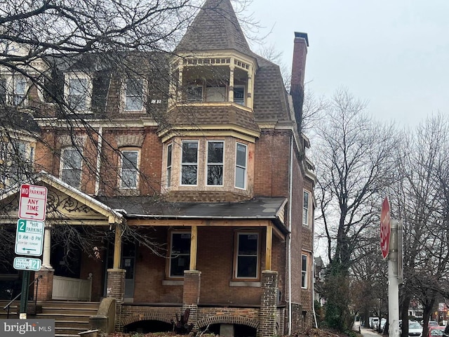
[[[91,300],[92,275],[88,279],[53,276],[53,300]]]

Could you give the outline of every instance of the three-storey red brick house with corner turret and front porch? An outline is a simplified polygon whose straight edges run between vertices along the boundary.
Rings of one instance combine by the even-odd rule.
[[[120,331],[170,326],[186,309],[194,329],[224,336],[311,326],[307,34],[294,44],[290,95],[279,67],[250,51],[229,0],[206,1],[169,60],[126,55],[133,77],[95,55],[65,67],[47,55],[42,67],[62,79],[61,99],[77,113],[62,118],[37,93],[27,102],[46,106],[27,143],[45,171],[34,183],[48,187],[48,223],[103,228],[108,249],[79,253],[71,275],[58,251],[45,251],[38,300],[54,296],[53,276],[91,274],[92,300],[116,298]],[[15,199],[17,190],[1,200]],[[124,239],[128,228],[154,247]]]

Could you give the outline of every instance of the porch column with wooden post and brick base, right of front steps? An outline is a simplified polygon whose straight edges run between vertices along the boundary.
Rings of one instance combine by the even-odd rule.
[[[120,268],[121,263],[121,224],[115,224],[114,263],[107,270],[107,297],[113,297],[118,303],[123,303],[125,293],[126,270]]]

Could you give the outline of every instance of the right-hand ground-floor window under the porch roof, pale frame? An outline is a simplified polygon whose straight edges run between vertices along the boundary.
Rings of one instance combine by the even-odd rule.
[[[260,238],[258,232],[236,234],[234,277],[257,279],[259,277]]]

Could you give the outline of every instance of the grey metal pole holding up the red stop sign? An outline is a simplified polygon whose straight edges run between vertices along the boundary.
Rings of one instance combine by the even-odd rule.
[[[388,254],[388,321],[389,337],[399,336],[398,221],[391,220]]]

